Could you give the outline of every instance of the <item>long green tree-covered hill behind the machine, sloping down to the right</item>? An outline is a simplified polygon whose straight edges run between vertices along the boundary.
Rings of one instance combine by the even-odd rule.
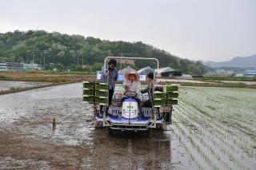
[[[110,42],[99,38],[81,35],[47,33],[44,30],[14,31],[0,34],[0,61],[17,61],[41,65],[46,61],[46,69],[54,63],[60,69],[96,70],[100,69],[107,56],[156,57],[161,67],[170,66],[182,70],[182,73],[204,73],[201,62],[181,59],[142,42]],[[86,67],[82,68],[83,64]],[[79,65],[78,65],[79,64]],[[152,65],[150,62],[138,61],[142,67]]]

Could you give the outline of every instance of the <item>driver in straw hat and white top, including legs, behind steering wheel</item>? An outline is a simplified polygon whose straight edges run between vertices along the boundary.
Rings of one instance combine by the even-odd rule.
[[[130,71],[129,73],[126,73],[125,77],[126,77],[126,81],[123,82],[123,87],[125,91],[126,92],[133,91],[136,93],[140,93],[142,85],[140,82],[138,82],[140,78],[138,73],[136,71]],[[143,117],[140,99],[138,97],[135,97],[134,99],[138,102],[139,116]],[[126,100],[126,97],[123,97],[121,102],[125,100]]]

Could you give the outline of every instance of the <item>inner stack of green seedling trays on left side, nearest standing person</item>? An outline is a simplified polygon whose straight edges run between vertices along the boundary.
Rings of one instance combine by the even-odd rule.
[[[106,83],[95,84],[95,104],[108,104],[108,85]]]

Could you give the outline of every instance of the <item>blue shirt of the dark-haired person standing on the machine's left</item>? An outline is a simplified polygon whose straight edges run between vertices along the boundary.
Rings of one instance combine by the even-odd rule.
[[[118,80],[118,69],[108,69],[109,70],[109,89],[114,89],[115,82]],[[102,70],[101,82],[107,83],[107,77],[105,76],[106,70]]]

